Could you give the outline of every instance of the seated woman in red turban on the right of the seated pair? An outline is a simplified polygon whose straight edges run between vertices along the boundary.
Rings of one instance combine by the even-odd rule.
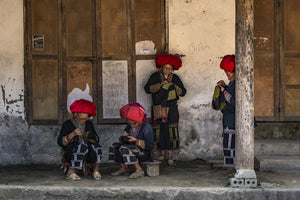
[[[128,165],[135,167],[135,172],[129,178],[144,176],[139,161],[151,159],[154,147],[154,131],[146,122],[144,108],[138,104],[127,104],[120,109],[121,118],[127,119],[128,125],[120,136],[120,143],[113,143],[109,148],[109,161],[120,163],[121,169],[112,173],[113,176],[129,172]]]

